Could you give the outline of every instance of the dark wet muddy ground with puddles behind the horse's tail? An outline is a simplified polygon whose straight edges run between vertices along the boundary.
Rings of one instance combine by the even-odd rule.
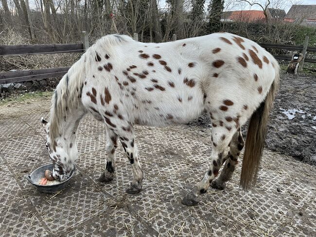
[[[207,114],[190,122],[196,129],[211,127]],[[246,136],[247,125],[243,127]],[[316,165],[316,77],[281,74],[271,111],[266,148]]]

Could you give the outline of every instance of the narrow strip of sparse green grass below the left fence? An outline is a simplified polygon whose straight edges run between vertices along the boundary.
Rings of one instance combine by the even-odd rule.
[[[15,103],[15,102],[28,102],[34,101],[39,99],[50,99],[53,95],[53,91],[35,91],[35,92],[28,92],[19,95],[11,95],[5,99],[0,100],[0,106],[5,105],[8,103]]]

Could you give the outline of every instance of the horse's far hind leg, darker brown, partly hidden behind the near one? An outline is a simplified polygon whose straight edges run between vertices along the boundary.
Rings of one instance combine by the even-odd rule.
[[[230,151],[220,176],[211,183],[212,188],[220,190],[225,188],[226,182],[231,179],[231,176],[235,171],[235,166],[238,164],[237,159],[240,151],[244,148],[244,144],[243,135],[241,129],[239,128],[231,139]]]

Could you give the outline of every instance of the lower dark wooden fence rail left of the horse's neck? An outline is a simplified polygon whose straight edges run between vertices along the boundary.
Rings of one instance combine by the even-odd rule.
[[[68,70],[69,67],[4,72],[0,73],[0,84],[12,82],[27,82],[38,79],[63,76],[67,73]]]

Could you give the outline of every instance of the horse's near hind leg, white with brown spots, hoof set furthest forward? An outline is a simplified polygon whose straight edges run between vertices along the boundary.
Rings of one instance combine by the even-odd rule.
[[[196,205],[198,197],[207,191],[211,182],[218,175],[218,170],[223,164],[223,158],[228,155],[228,144],[235,131],[235,127],[230,127],[228,130],[225,126],[213,125],[210,169],[204,174],[197,187],[182,200],[183,204],[188,206]]]

